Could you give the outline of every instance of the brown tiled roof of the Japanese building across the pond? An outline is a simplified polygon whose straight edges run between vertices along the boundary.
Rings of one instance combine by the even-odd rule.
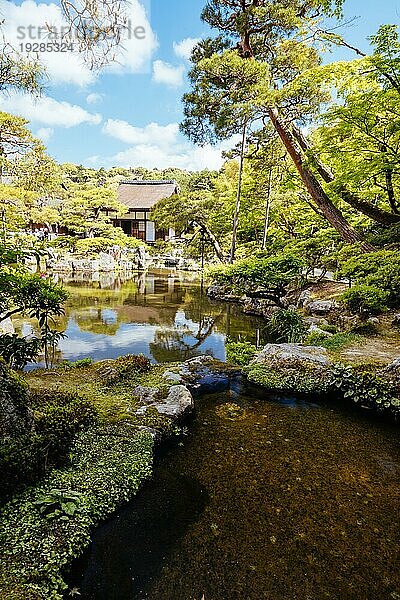
[[[128,208],[145,209],[177,192],[176,181],[121,181],[118,197]]]

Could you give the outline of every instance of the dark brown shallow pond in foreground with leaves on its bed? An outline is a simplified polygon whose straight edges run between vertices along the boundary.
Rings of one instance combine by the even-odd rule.
[[[397,600],[399,475],[391,425],[234,381],[197,399],[70,585],[82,600]]]

